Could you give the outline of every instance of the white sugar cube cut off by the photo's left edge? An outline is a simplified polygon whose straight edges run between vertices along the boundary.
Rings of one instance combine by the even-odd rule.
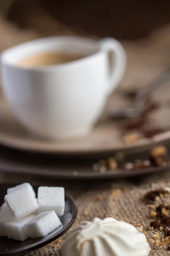
[[[7,236],[5,223],[14,219],[14,216],[8,209],[6,204],[3,204],[0,210],[0,236]]]

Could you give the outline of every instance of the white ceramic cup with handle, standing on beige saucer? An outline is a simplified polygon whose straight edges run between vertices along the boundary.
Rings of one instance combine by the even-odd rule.
[[[17,66],[23,58],[54,51],[88,56],[53,66]],[[125,68],[125,51],[113,38],[42,38],[1,55],[3,92],[16,118],[32,134],[55,140],[91,131]]]

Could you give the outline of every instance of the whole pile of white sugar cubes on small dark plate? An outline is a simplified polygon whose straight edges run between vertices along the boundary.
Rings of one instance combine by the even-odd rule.
[[[0,236],[24,241],[43,237],[61,225],[64,214],[63,187],[38,188],[38,195],[29,183],[7,189],[5,202],[0,208]]]

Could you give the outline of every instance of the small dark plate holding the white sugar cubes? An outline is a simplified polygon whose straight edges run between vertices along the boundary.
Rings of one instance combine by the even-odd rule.
[[[0,205],[4,202],[6,189],[14,184],[0,184]],[[34,188],[37,192],[37,188]],[[38,239],[26,239],[25,241],[16,241],[6,237],[0,237],[0,256],[22,256],[40,247],[43,247],[52,241],[58,239],[66,233],[77,217],[77,207],[73,199],[68,195],[65,196],[65,211],[60,218],[62,226],[51,232],[49,235]]]

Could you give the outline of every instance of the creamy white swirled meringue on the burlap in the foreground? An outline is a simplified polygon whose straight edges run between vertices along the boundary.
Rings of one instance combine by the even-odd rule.
[[[83,221],[66,236],[62,256],[148,256],[144,234],[114,218]]]

